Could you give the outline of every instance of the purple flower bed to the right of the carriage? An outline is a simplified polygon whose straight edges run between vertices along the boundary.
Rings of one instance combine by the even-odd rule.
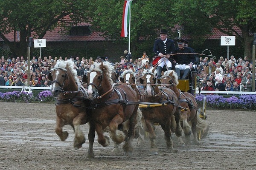
[[[231,97],[221,95],[196,95],[195,99],[198,105],[203,105],[204,97],[206,97],[207,106],[210,108],[256,110],[256,95],[244,94]]]

